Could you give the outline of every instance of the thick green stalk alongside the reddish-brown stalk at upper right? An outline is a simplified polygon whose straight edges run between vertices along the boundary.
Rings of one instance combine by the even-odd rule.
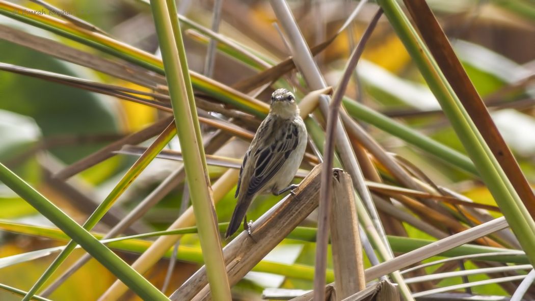
[[[519,243],[535,264],[535,222],[511,185],[468,113],[440,71],[426,45],[394,0],[379,0],[385,15],[414,59],[442,110],[491,191]]]

